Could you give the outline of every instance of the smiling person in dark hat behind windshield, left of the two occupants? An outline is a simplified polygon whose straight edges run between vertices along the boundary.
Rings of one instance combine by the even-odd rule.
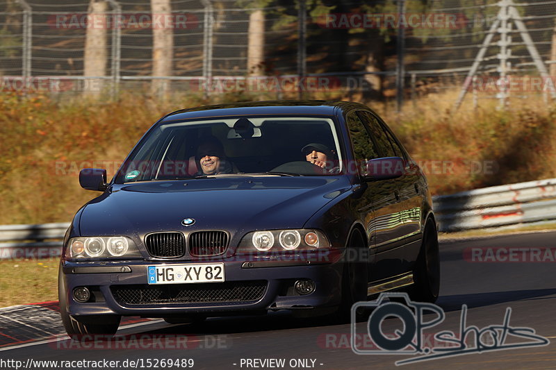
[[[199,169],[195,176],[229,174],[233,168],[224,153],[224,146],[214,136],[205,136],[199,140],[195,161]]]

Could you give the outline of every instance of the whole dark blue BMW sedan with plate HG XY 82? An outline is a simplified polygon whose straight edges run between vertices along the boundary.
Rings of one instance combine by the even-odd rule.
[[[423,172],[359,103],[261,101],[173,112],[75,215],[60,262],[71,336],[122,316],[169,323],[289,310],[350,317],[389,290],[439,294]]]

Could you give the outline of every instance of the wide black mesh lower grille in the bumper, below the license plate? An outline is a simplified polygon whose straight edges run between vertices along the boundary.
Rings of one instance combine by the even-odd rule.
[[[219,303],[259,301],[266,280],[227,281],[226,283],[172,285],[113,285],[112,294],[121,305],[159,305],[164,303]]]

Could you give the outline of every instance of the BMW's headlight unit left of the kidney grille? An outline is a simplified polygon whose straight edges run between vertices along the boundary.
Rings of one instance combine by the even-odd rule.
[[[142,258],[129,237],[72,237],[65,249],[66,260]]]

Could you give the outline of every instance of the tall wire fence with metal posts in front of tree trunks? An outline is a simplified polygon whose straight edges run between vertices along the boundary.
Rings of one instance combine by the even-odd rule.
[[[460,89],[475,105],[554,94],[556,1],[154,3],[165,1],[1,1],[2,90],[154,92],[158,81],[156,92],[401,103]]]

